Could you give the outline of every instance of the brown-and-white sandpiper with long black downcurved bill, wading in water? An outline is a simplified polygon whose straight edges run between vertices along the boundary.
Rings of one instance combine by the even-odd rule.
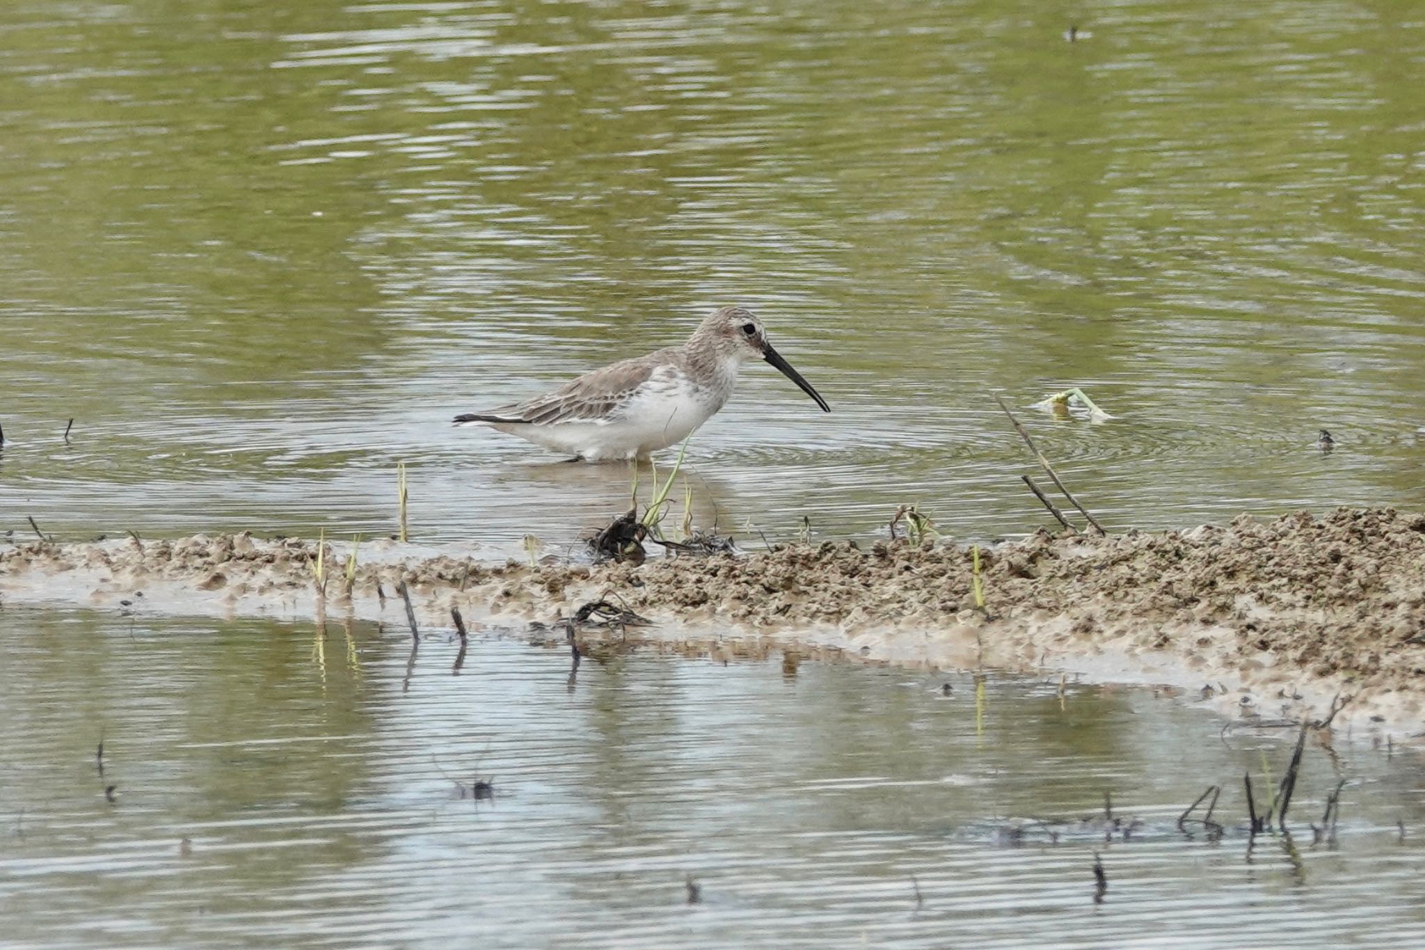
[[[455,422],[489,424],[583,461],[647,459],[711,419],[732,395],[742,362],[752,356],[782,370],[831,412],[821,393],[767,342],[760,319],[740,306],[724,306],[683,346],[620,360],[543,396],[465,413]]]

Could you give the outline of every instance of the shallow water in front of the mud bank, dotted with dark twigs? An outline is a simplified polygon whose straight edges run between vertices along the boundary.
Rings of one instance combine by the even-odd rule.
[[[1425,939],[1425,762],[1312,743],[1292,840],[1253,845],[1241,775],[1280,778],[1294,736],[1220,735],[1190,696],[990,672],[978,715],[966,674],[781,652],[643,648],[571,679],[563,648],[493,635],[459,675],[443,635],[410,664],[369,622],[7,608],[0,630],[11,947]],[[1338,840],[1312,845],[1337,775]],[[1220,840],[1173,826],[1210,782]],[[1106,790],[1127,840],[1074,825]],[[1016,842],[1025,819],[1069,825]]]

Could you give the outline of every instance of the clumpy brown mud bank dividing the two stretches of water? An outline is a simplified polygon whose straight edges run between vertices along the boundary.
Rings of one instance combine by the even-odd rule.
[[[765,638],[908,665],[1174,682],[1268,719],[1324,711],[1341,692],[1354,696],[1341,721],[1425,721],[1425,514],[1391,508],[1114,537],[1040,531],[980,551],[983,610],[970,551],[948,543],[782,546],[638,565],[489,564],[366,544],[349,593],[348,551],[328,546],[318,598],[316,546],[304,541],[37,541],[0,548],[0,594],[403,624],[405,581],[422,624],[442,628],[452,607],[473,622],[526,628],[608,600],[654,625],[604,637]]]

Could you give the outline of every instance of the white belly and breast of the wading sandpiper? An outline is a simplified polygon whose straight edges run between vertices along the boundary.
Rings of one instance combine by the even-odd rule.
[[[644,459],[687,439],[721,406],[690,386],[636,393],[617,416],[551,424],[496,424],[530,442],[587,461]]]

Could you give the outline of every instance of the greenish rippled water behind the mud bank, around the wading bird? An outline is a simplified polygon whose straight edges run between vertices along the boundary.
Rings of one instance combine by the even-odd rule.
[[[0,530],[389,533],[405,460],[419,538],[569,540],[628,473],[449,417],[727,301],[834,412],[750,366],[690,447],[704,524],[844,536],[918,501],[1032,530],[989,392],[1066,385],[1117,417],[1023,414],[1110,527],[1425,504],[1425,20],[1141,0],[1082,26],[7,3]]]

